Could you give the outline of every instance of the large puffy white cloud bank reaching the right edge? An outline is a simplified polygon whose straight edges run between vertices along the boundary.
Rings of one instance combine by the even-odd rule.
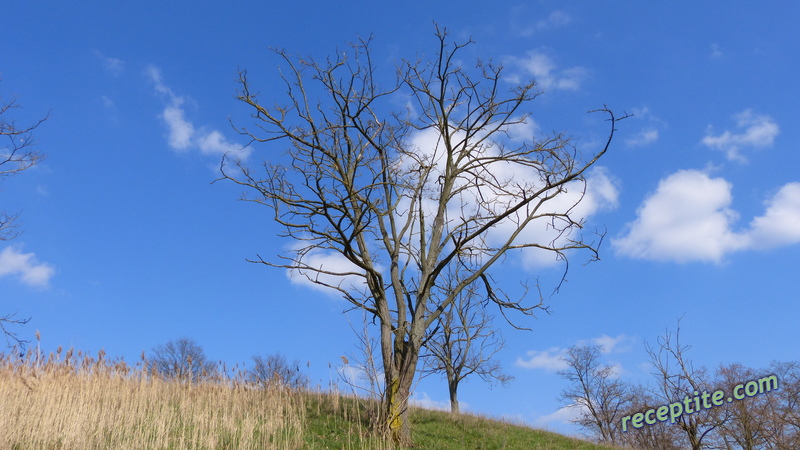
[[[800,243],[800,183],[788,183],[766,202],[748,228],[733,228],[732,185],[697,170],[661,180],[624,236],[612,241],[618,254],[660,261],[719,263],[730,253]]]

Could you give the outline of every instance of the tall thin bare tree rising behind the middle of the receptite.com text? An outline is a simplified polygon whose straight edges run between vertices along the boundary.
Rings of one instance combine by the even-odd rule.
[[[714,392],[714,380],[705,367],[695,368],[686,358],[689,345],[680,341],[680,320],[673,335],[670,331],[658,338],[658,348],[646,344],[647,354],[653,365],[656,387],[652,393],[663,404],[694,398],[697,393]],[[704,439],[727,420],[724,410],[701,409],[682,414],[676,421],[683,431],[688,446],[697,450],[703,447]]]

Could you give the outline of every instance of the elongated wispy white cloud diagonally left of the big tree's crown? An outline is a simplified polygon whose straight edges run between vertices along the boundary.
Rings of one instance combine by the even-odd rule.
[[[167,142],[171,148],[178,151],[195,149],[204,155],[230,155],[242,160],[250,156],[252,151],[250,147],[243,147],[229,141],[220,131],[206,128],[196,129],[194,124],[186,118],[184,109],[186,98],[175,95],[172,89],[164,83],[161,71],[157,67],[148,66],[145,73],[153,82],[156,92],[169,99],[160,117],[167,125]]]

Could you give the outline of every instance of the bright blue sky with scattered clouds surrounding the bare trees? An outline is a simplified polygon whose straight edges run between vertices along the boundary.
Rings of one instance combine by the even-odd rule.
[[[255,2],[254,2],[255,3]],[[132,361],[181,336],[229,365],[285,353],[325,385],[355,351],[345,304],[246,258],[275,255],[270,211],[211,182],[226,151],[258,163],[231,128],[237,69],[268,101],[281,93],[269,47],[324,57],[374,34],[378,65],[435,51],[433,21],[476,44],[462,57],[535,78],[533,131],[565,131],[591,151],[604,104],[619,124],[600,161],[602,260],[572,260],[550,315],[504,328],[515,376],[468,381],[466,408],[575,432],[556,400],[564,349],[603,344],[622,377],[646,380],[644,342],[678,317],[696,364],[753,367],[798,358],[800,8],[789,1],[702,3],[5,2],[0,94],[37,130],[47,159],[3,181],[2,208],[24,234],[0,247],[2,311],[30,316],[62,345]],[[273,95],[274,93],[274,95]],[[599,185],[597,185],[599,186]],[[509,259],[508,282],[560,272]],[[546,291],[549,292],[549,291]],[[548,294],[549,295],[549,294]],[[357,322],[358,315],[351,320]],[[441,380],[417,388],[447,401]]]

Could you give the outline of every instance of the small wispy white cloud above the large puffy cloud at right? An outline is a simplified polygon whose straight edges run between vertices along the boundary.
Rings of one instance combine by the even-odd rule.
[[[750,109],[734,115],[733,118],[736,120],[738,133],[725,131],[714,135],[709,126],[706,136],[701,141],[708,147],[725,152],[730,161],[747,162],[742,150],[769,147],[780,131],[770,116],[756,114]]]

